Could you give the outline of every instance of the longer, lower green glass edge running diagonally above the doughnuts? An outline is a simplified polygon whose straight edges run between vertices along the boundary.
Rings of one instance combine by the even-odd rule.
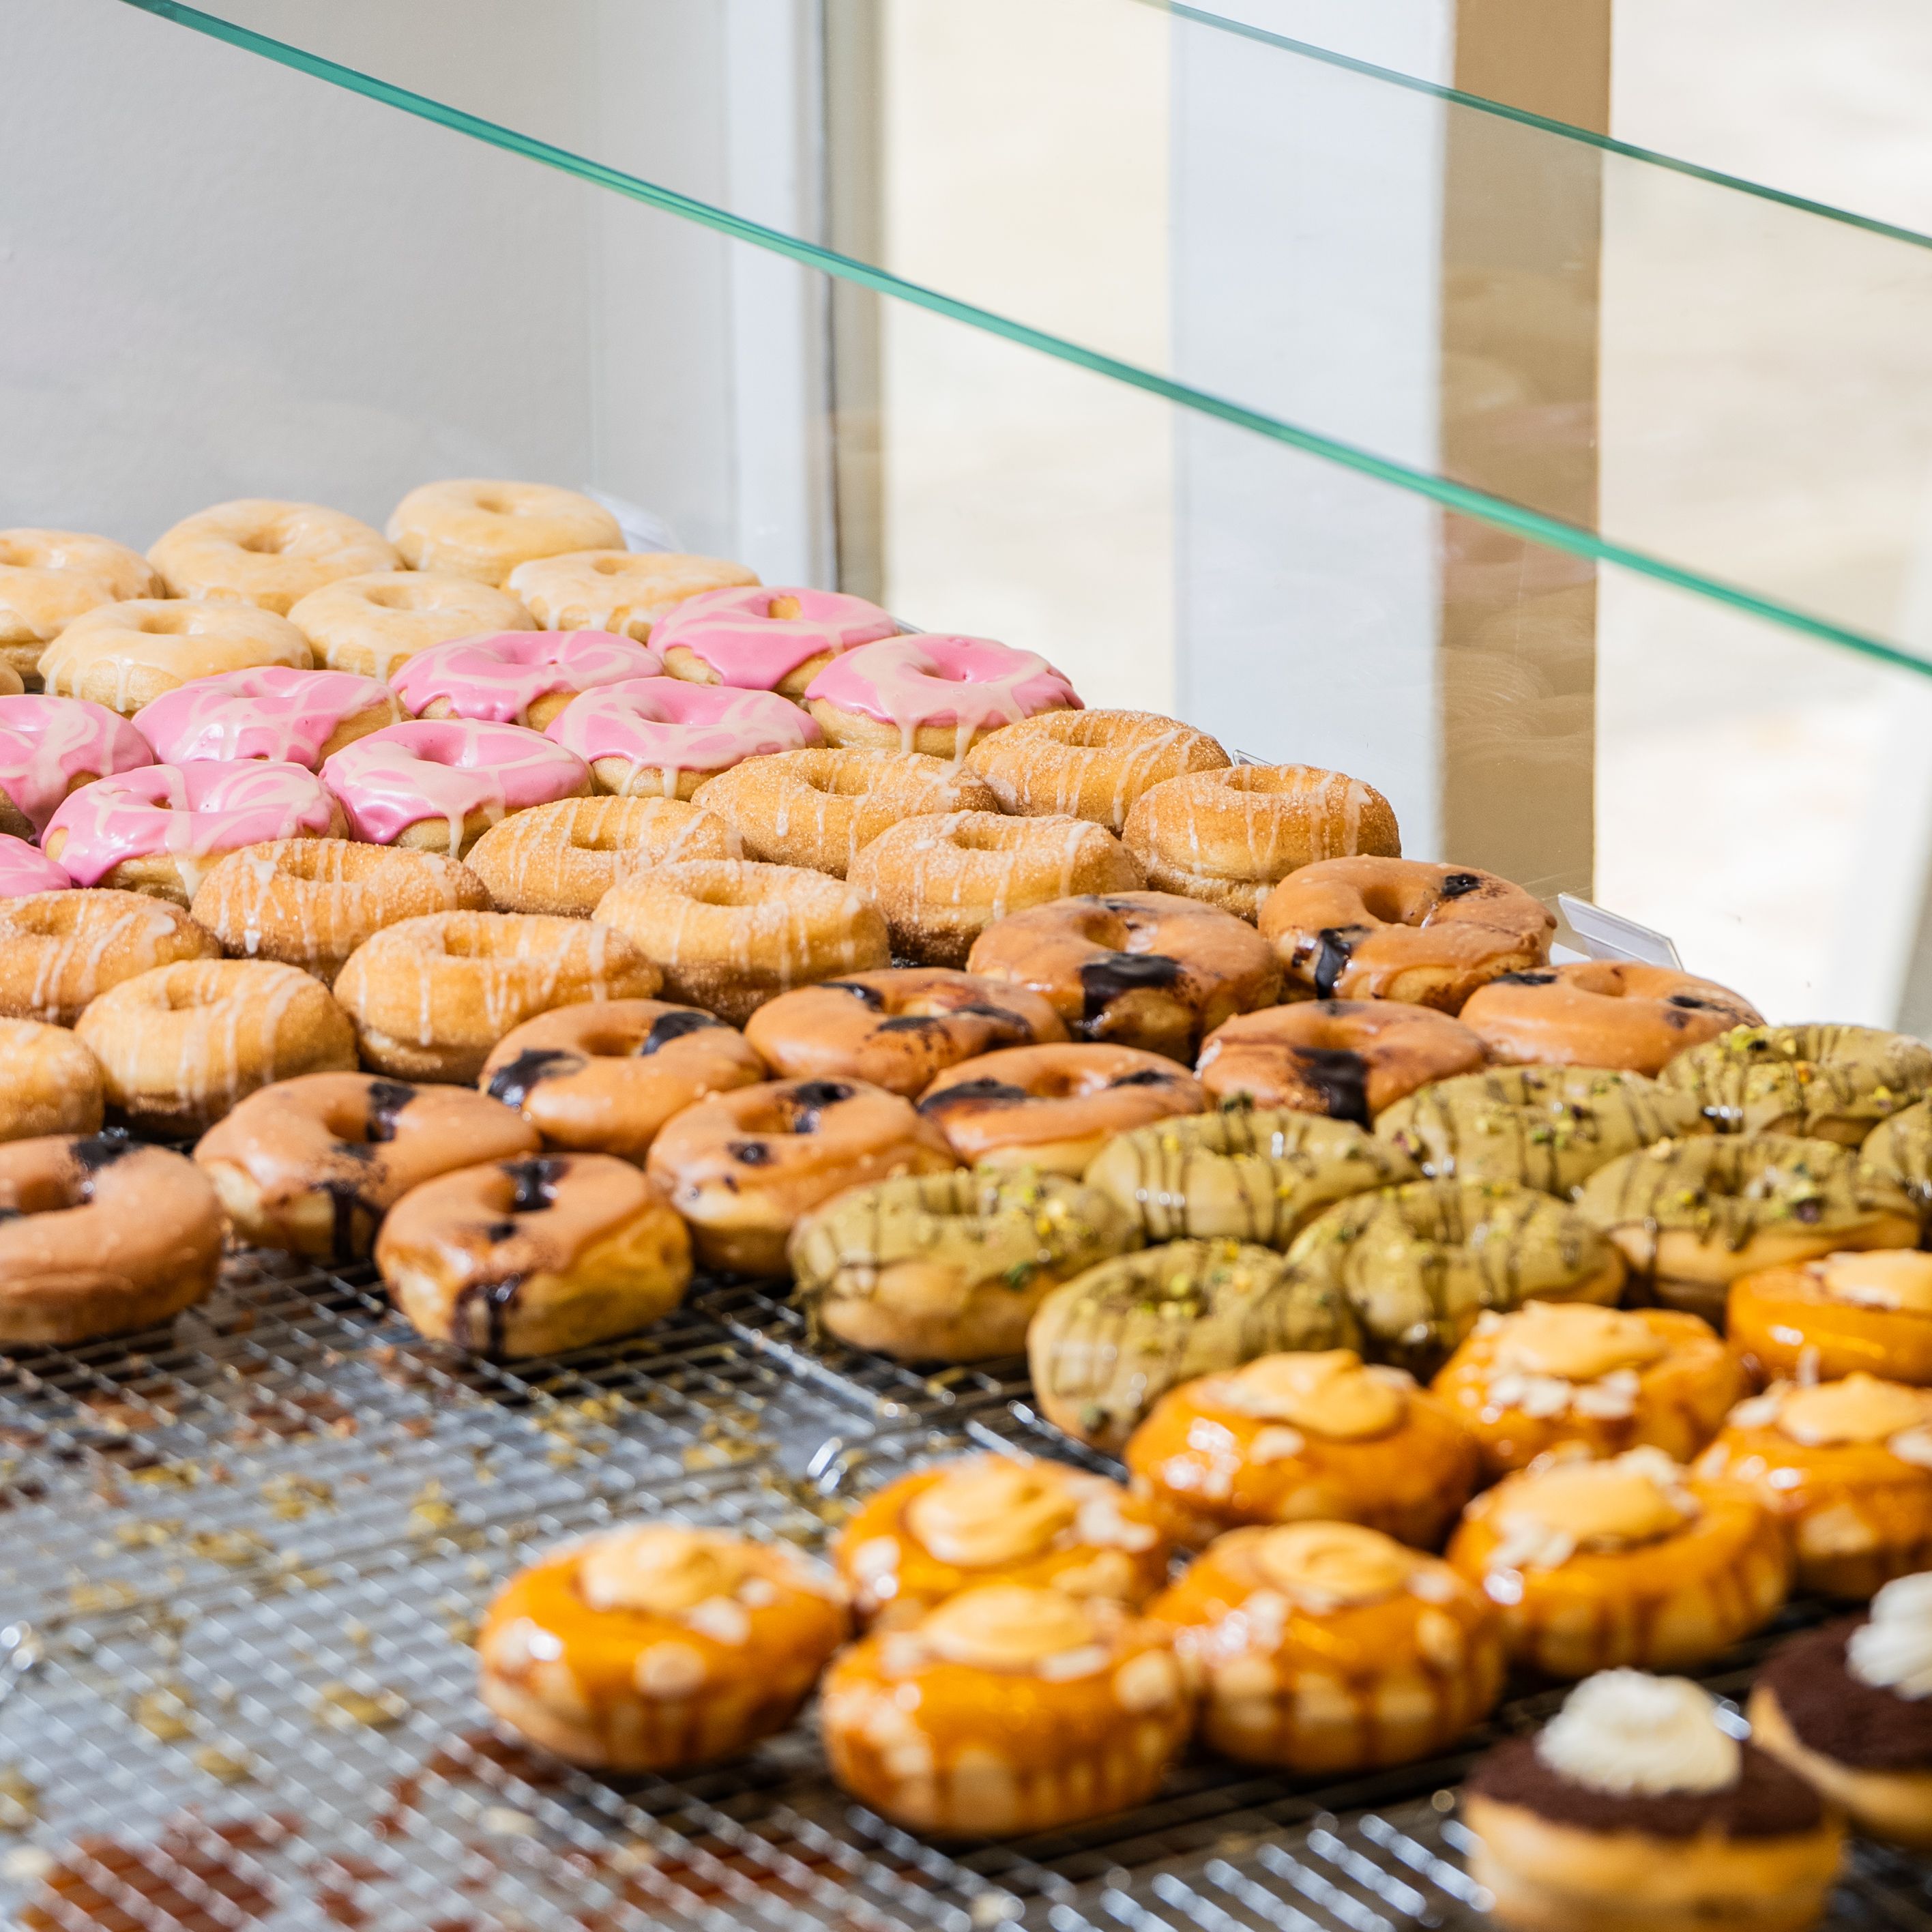
[[[487,147],[498,147],[506,153],[522,155],[526,160],[533,160],[545,168],[554,168],[580,182],[607,187],[632,201],[641,201],[645,207],[661,209],[667,214],[697,222],[703,228],[713,228],[734,242],[748,242],[753,247],[769,249],[771,253],[784,255],[786,259],[808,269],[817,269],[823,274],[835,274],[846,282],[858,282],[860,286],[871,288],[881,296],[891,296],[896,301],[929,309],[933,315],[945,315],[949,321],[966,323],[970,328],[1003,336],[1005,340],[1036,350],[1041,355],[1053,355],[1059,361],[1072,363],[1074,367],[1090,369],[1094,375],[1103,375],[1115,383],[1124,383],[1130,388],[1140,388],[1182,410],[1192,410],[1198,415],[1211,415],[1236,429],[1246,429],[1258,437],[1267,437],[1291,448],[1304,450],[1310,456],[1352,469],[1358,475],[1368,475],[1379,483],[1389,483],[1395,489],[1408,491],[1414,497],[1424,497],[1430,502],[1441,504],[1445,510],[1457,512],[1459,516],[1476,518],[1495,529],[1528,537],[1532,543],[1544,543],[1551,549],[1567,551],[1573,556],[1586,556],[1592,562],[1617,564],[1623,570],[1652,578],[1658,583],[1669,583],[1671,587],[1689,591],[1694,597],[1706,597],[1716,603],[1729,605],[1735,611],[1745,611],[1750,616],[1760,616],[1766,622],[1781,624],[1787,630],[1803,632],[1822,643],[1833,643],[1847,651],[1857,651],[1859,655],[1870,657],[1882,665],[1893,665],[1901,670],[1932,676],[1932,659],[1917,657],[1915,653],[1888,643],[1882,638],[1872,638],[1843,624],[1833,624],[1828,618],[1795,611],[1789,605],[1776,603],[1770,597],[1745,589],[1743,585],[1725,583],[1719,578],[1706,578],[1700,572],[1665,562],[1660,556],[1633,551],[1627,545],[1613,543],[1578,524],[1567,524],[1559,518],[1544,516],[1538,510],[1526,510],[1520,504],[1511,502],[1507,497],[1492,497],[1490,493],[1470,489],[1464,483],[1451,483],[1447,477],[1437,477],[1426,469],[1414,469],[1408,464],[1376,456],[1372,450],[1356,448],[1352,442],[1343,442],[1337,437],[1325,437],[1312,429],[1300,429],[1294,423],[1264,415],[1244,404],[1229,402],[1227,398],[1215,396],[1208,390],[1198,390],[1186,383],[1177,383],[1171,377],[1155,375],[1151,369],[1140,369],[1134,363],[1119,361],[1117,357],[1103,355],[1097,350],[1082,348],[1078,342],[1068,342],[1065,336],[1053,336],[1045,330],[1030,328],[1026,323],[1009,321],[1005,315],[997,315],[991,309],[958,301],[952,296],[941,296],[937,290],[925,288],[920,282],[908,282],[885,269],[875,269],[869,263],[838,255],[833,249],[819,247],[811,242],[800,242],[796,236],[782,234],[777,228],[767,228],[761,222],[746,220],[742,214],[732,214],[726,209],[715,209],[711,203],[678,193],[674,187],[659,187],[655,182],[645,182],[639,176],[624,174],[618,168],[587,160],[582,155],[572,155],[568,149],[554,147],[549,141],[539,141],[533,135],[518,133],[514,128],[504,128],[475,114],[466,114],[462,108],[446,106],[440,100],[431,100],[427,95],[417,95],[371,73],[361,73],[357,68],[348,68],[342,62],[325,58],[323,54],[311,54],[305,48],[288,44],[286,41],[270,39],[265,33],[257,33],[253,27],[242,27],[236,21],[220,19],[214,14],[203,14],[199,8],[185,6],[184,0],[122,0],[122,4],[143,14],[151,14],[156,19],[172,21],[178,27],[189,27],[195,33],[203,33],[213,41],[222,41],[228,46],[242,48],[243,52],[259,54],[265,60],[278,62],[280,66],[292,68],[298,73],[307,73],[313,79],[328,81],[348,93],[379,100],[404,114],[413,114],[415,118],[433,122],[439,128],[469,135],[473,141],[481,141]]]

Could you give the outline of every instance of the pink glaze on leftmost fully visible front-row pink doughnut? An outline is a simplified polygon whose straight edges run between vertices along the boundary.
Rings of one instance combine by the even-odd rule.
[[[147,765],[83,784],[41,835],[75,885],[99,885],[131,858],[205,860],[270,838],[323,838],[334,804],[301,765],[261,757]]]

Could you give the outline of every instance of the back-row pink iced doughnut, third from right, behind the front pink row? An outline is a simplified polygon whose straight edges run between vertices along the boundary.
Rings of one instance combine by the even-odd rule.
[[[307,771],[365,732],[400,723],[402,705],[386,684],[288,665],[195,678],[133,715],[133,728],[164,765],[267,757]]]

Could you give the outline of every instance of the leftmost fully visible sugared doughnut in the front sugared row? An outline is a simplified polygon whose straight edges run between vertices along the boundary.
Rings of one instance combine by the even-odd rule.
[[[328,989],[272,960],[155,966],[108,987],[73,1037],[100,1063],[108,1109],[156,1138],[199,1134],[274,1080],[355,1066]]]

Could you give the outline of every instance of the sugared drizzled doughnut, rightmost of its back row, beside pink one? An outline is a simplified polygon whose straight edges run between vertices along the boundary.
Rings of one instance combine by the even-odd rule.
[[[1153,711],[1049,711],[993,732],[966,765],[1007,811],[1070,813],[1119,833],[1142,792],[1190,771],[1221,771],[1229,755],[1208,732]]]

